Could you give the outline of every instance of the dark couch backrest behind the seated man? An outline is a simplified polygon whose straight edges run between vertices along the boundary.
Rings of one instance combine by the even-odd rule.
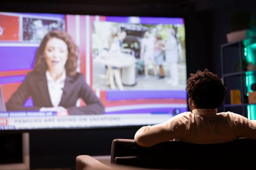
[[[168,141],[152,147],[138,146],[133,139],[114,139],[111,164],[155,169],[256,170],[256,140],[238,138],[218,144]]]

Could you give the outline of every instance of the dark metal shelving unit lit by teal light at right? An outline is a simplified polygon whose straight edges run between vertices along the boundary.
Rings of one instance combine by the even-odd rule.
[[[227,96],[223,103],[224,111],[232,111],[249,119],[256,119],[256,104],[248,103],[248,92],[256,83],[256,36],[220,46],[221,73]],[[254,64],[253,70],[247,70],[248,63]],[[240,103],[231,102],[231,90],[240,90]],[[237,95],[238,97],[238,95]]]

